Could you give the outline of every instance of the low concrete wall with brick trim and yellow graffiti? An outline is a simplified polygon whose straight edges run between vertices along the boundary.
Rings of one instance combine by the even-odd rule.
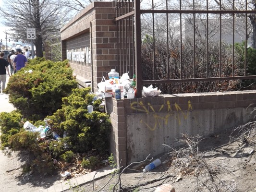
[[[252,120],[255,102],[256,91],[107,98],[111,152],[122,166],[156,156],[181,133],[209,136]]]

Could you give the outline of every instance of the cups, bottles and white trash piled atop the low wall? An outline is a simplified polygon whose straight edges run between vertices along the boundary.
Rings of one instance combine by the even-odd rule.
[[[103,98],[114,97],[117,100],[136,97],[136,75],[134,74],[133,78],[130,79],[128,73],[123,73],[120,77],[119,72],[111,69],[109,73],[106,73],[105,77],[102,77],[101,82],[98,83],[98,96]],[[143,93],[143,96],[158,96],[161,91],[158,88],[153,89],[152,85],[150,85],[147,88],[145,87]]]

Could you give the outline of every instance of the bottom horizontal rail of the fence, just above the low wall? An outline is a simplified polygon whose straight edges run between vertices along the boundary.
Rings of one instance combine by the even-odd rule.
[[[161,83],[185,83],[185,82],[205,82],[205,81],[227,81],[227,80],[242,80],[256,79],[256,75],[251,76],[230,76],[230,77],[210,77],[210,78],[195,78],[195,79],[170,79],[170,80],[143,80],[143,84],[161,84]]]

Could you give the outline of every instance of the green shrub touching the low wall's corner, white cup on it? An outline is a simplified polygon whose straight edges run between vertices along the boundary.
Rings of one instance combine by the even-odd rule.
[[[52,129],[60,135],[68,132],[66,141],[72,144],[69,149],[74,153],[93,149],[105,154],[109,149],[111,122],[107,113],[97,111],[102,100],[95,100],[90,88],[73,89],[73,93],[62,100],[62,108],[48,117]],[[88,105],[93,105],[93,113],[87,113]]]

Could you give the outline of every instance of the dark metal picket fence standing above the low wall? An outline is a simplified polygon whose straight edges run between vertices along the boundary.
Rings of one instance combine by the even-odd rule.
[[[160,3],[161,2],[161,3]],[[137,90],[142,90],[143,84],[170,84],[181,82],[199,82],[199,81],[221,81],[221,80],[236,80],[236,79],[255,79],[256,75],[247,74],[247,47],[249,36],[252,36],[253,31],[251,25],[253,19],[255,19],[256,10],[252,1],[224,1],[224,0],[203,0],[203,1],[148,1],[149,5],[140,2],[140,0],[117,0],[116,9],[117,16],[116,22],[118,26],[118,61],[119,71],[130,72],[136,74],[136,87]],[[190,2],[190,3],[188,3]],[[199,4],[200,2],[200,4]],[[145,2],[144,2],[145,3]],[[143,8],[146,7],[146,8]],[[159,22],[159,18],[161,22]],[[144,20],[142,20],[144,18]],[[147,18],[145,20],[145,18]],[[163,19],[164,18],[164,19]],[[145,21],[150,21],[146,25]],[[161,30],[157,29],[161,23]],[[172,23],[172,25],[170,25]],[[143,26],[143,27],[142,27]],[[190,26],[190,27],[189,27]],[[152,65],[149,68],[152,72],[151,79],[144,79],[142,72],[144,67],[142,66],[142,45],[143,39],[145,39],[145,28],[150,28],[151,32],[151,51]],[[203,33],[203,30],[205,33]],[[215,31],[214,31],[215,30]],[[170,36],[171,31],[173,34]],[[214,32],[213,32],[214,31]],[[148,31],[147,31],[148,32]],[[161,38],[158,37],[158,33],[161,33]],[[204,36],[202,37],[201,34]],[[237,56],[235,55],[235,44],[239,42],[237,35],[240,37],[240,42],[244,42],[244,50],[242,51],[244,60],[243,67],[240,72],[237,71]],[[173,47],[170,42],[173,39],[178,41],[176,45],[175,61],[172,54]],[[184,42],[186,38],[191,39],[192,52],[190,54],[191,62],[185,58]],[[205,50],[204,61],[201,63],[198,60],[202,60],[202,55],[197,54],[198,39],[203,38]],[[227,39],[229,42],[226,42]],[[159,39],[162,39],[161,41]],[[159,42],[160,43],[159,43]],[[213,67],[212,58],[209,53],[212,42],[218,42],[219,57],[218,64]],[[164,42],[161,44],[161,42]],[[224,58],[224,52],[226,49],[223,45],[228,45],[225,48],[229,48],[229,59]],[[159,78],[157,75],[159,65],[156,64],[156,60],[159,59],[159,50],[157,46],[162,45],[165,49],[164,62],[160,61],[160,65],[164,67],[164,78]],[[229,54],[226,54],[229,55]],[[222,58],[223,57],[223,58]],[[161,58],[162,60],[163,58]],[[145,60],[145,59],[144,59]],[[228,60],[228,61],[227,61]],[[177,62],[178,61],[178,62]],[[172,65],[179,63],[175,66],[179,74],[172,75]],[[203,70],[201,74],[198,74],[198,65],[202,65]],[[228,64],[227,64],[228,63]],[[189,68],[188,68],[189,65]],[[228,67],[227,67],[228,66]],[[216,74],[209,73],[209,69],[217,68]],[[187,70],[191,71],[190,75],[186,75]],[[229,70],[230,72],[223,72]],[[241,72],[242,71],[242,72]],[[141,93],[137,92],[137,97],[141,97]]]

